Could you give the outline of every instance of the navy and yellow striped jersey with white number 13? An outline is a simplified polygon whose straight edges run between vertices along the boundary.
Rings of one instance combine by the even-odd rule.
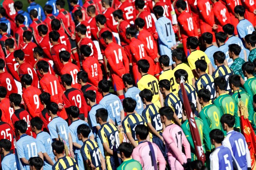
[[[158,111],[159,107],[152,103],[146,106],[142,112],[142,116],[144,117],[146,123],[151,123],[158,133],[162,133],[163,124],[161,123]],[[154,134],[152,135],[154,137]]]

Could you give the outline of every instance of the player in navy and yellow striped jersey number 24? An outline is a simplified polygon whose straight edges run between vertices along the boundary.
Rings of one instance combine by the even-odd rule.
[[[164,106],[169,106],[172,108],[172,110],[175,112],[175,115],[173,115],[174,121],[178,125],[181,125],[180,120],[182,118],[182,104],[180,98],[176,94],[170,92],[171,83],[169,80],[160,80],[158,84],[160,92],[165,97]]]

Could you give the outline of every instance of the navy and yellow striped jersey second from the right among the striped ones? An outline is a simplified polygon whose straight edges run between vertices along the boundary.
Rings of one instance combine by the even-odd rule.
[[[198,92],[200,89],[207,89],[211,92],[211,100],[213,100],[216,97],[216,91],[214,86],[214,77],[209,74],[203,74],[201,75],[198,80],[196,80],[195,87],[196,92]]]

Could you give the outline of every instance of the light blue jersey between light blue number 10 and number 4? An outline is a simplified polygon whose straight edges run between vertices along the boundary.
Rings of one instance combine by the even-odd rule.
[[[52,137],[44,131],[39,132],[36,135],[36,141],[38,144],[38,147],[40,147],[42,153],[47,153],[49,157],[52,159],[53,163],[55,163],[54,160],[54,154],[52,152]],[[44,159],[44,169],[45,170],[51,170],[52,166]]]

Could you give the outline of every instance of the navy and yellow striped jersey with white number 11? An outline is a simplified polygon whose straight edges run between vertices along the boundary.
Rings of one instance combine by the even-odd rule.
[[[98,147],[98,144],[95,141],[91,139],[84,141],[84,144],[82,145],[80,151],[84,161],[90,159],[92,161],[93,166],[95,166],[97,170],[101,170],[101,163],[100,163],[101,152]]]

